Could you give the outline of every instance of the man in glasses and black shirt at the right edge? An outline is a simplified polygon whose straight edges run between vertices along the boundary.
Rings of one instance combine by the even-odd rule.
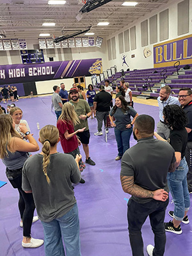
[[[188,116],[186,130],[188,132],[188,144],[186,147],[186,161],[188,162],[189,172],[187,175],[189,193],[192,193],[192,91],[190,88],[181,88],[179,90],[179,102],[182,109]]]

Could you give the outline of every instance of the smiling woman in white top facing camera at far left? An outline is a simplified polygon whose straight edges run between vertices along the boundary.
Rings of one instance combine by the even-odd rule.
[[[28,122],[26,120],[22,120],[22,110],[20,108],[11,108],[10,109],[10,115],[13,118],[13,121],[15,122],[15,131],[19,132],[20,136],[24,138],[24,134],[20,131],[19,125],[20,124],[25,124],[26,127],[28,128],[28,131],[31,132]]]

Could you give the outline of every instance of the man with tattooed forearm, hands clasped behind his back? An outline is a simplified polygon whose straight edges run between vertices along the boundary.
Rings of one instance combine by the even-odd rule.
[[[163,256],[166,243],[164,214],[168,205],[168,172],[175,170],[175,151],[166,141],[154,139],[154,118],[140,115],[134,123],[134,138],[138,143],[122,157],[120,179],[128,202],[127,220],[133,256],[143,255],[141,227],[147,216],[155,236],[149,244],[150,256]]]

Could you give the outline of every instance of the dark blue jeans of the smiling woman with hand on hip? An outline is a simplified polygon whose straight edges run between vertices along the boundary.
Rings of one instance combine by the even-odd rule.
[[[125,131],[120,131],[115,127],[115,138],[118,148],[118,156],[123,156],[125,151],[130,147],[129,140],[132,133],[132,127]]]

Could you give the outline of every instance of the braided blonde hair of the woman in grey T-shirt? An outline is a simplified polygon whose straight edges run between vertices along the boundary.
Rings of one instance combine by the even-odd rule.
[[[45,125],[39,132],[40,142],[43,144],[43,172],[46,176],[48,184],[50,184],[47,168],[50,163],[50,149],[58,142],[59,130],[54,125]]]

